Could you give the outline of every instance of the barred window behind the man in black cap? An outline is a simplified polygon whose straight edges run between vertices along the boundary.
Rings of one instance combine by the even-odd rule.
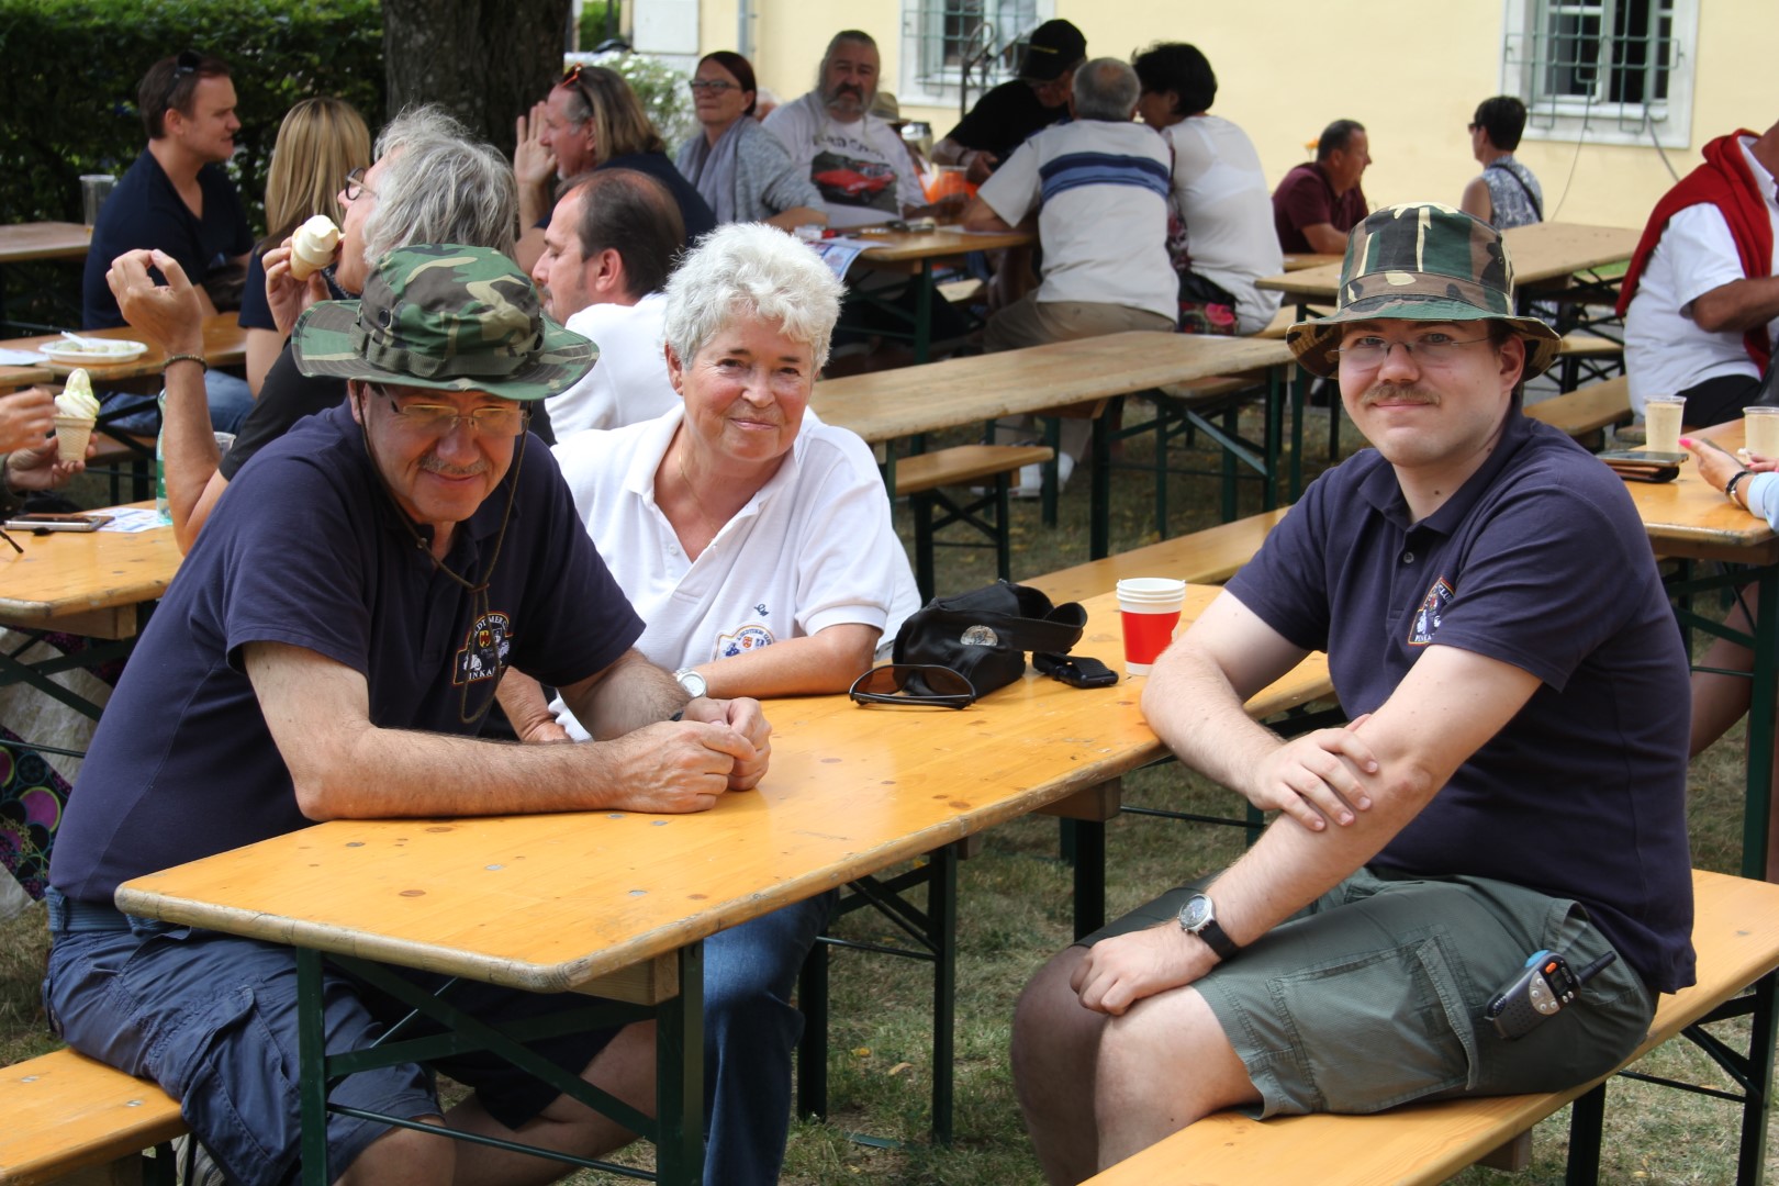
[[[1051,0],[902,0],[900,101],[973,105],[1019,69]]]

